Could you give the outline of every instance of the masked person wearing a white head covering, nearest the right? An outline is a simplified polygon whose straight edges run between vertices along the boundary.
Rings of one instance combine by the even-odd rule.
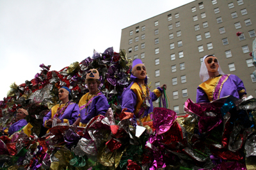
[[[234,74],[224,74],[214,55],[204,56],[199,75],[203,83],[197,87],[196,103],[209,103],[230,95],[238,99],[246,97],[243,81]]]

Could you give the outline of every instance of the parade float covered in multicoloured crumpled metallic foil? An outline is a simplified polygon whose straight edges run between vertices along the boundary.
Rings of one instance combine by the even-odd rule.
[[[0,137],[1,169],[255,169],[256,99],[228,96],[204,104],[188,99],[187,114],[177,117],[163,93],[164,107],[154,108],[152,122],[140,124],[120,106],[131,83],[131,63],[125,50],[108,48],[60,71],[41,64],[33,80],[13,83],[0,101],[1,129],[15,122],[19,108],[28,110],[30,126]],[[92,68],[99,71],[99,88],[111,108],[86,127],[62,123],[45,134],[42,118],[58,104],[58,89],[68,87],[78,103]]]

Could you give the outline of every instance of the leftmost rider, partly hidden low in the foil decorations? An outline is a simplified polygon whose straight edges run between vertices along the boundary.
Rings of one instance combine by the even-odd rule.
[[[28,116],[28,111],[20,108],[16,114],[17,122],[12,124],[9,128],[4,127],[4,134],[9,134],[10,136],[14,133],[22,129],[28,122],[25,120],[26,116]]]

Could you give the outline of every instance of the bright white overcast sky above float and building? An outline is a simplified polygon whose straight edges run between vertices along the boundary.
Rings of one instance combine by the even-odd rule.
[[[122,29],[191,1],[0,0],[0,101],[40,64],[60,71],[93,49],[119,52]]]

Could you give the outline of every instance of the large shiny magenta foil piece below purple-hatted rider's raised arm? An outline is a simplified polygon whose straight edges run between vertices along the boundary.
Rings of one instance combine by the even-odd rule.
[[[156,127],[156,133],[163,134],[167,132],[176,118],[177,115],[175,111],[166,108],[154,108],[153,125]]]

